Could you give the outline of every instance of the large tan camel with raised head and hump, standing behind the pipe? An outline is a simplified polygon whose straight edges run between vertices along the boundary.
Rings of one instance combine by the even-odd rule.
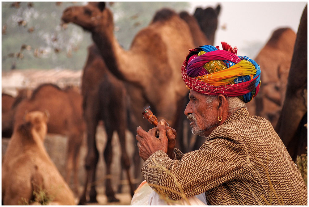
[[[151,128],[141,116],[146,105],[170,125],[178,120],[178,101],[188,94],[180,68],[188,50],[195,47],[190,28],[179,15],[168,9],[157,12],[150,25],[135,36],[128,51],[122,49],[113,36],[112,13],[103,2],[69,7],[61,19],[91,32],[108,70],[125,82],[130,100],[134,102],[129,107],[128,125],[134,134],[137,126]],[[139,160],[135,153],[134,163]],[[95,160],[88,162],[86,168]],[[139,172],[140,167],[135,171]]]

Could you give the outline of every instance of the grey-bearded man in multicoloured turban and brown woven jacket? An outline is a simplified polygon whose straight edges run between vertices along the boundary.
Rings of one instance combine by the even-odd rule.
[[[307,205],[307,187],[280,137],[268,120],[247,111],[259,91],[260,66],[222,47],[193,49],[182,66],[191,90],[184,113],[205,143],[183,154],[164,120],[148,132],[138,127],[144,178],[174,200],[205,192],[208,205]]]

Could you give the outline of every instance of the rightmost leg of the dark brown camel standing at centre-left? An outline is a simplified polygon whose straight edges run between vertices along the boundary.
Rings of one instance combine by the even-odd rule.
[[[127,174],[127,179],[129,182],[129,187],[130,187],[130,191],[131,191],[131,196],[134,195],[134,188],[133,188],[133,184],[132,184],[132,180],[131,180],[131,176],[130,176],[130,159],[127,153],[127,150],[125,148],[126,146],[126,142],[125,142],[125,129],[118,129],[118,136],[119,136],[119,140],[120,140],[120,146],[121,146],[121,168],[125,169],[126,174]],[[121,173],[122,174],[122,173]]]

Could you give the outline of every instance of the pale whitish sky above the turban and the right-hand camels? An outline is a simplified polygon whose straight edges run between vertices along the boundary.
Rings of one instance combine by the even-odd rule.
[[[222,49],[221,41],[225,41],[238,48],[238,55],[255,58],[276,29],[290,27],[297,33],[307,2],[191,2],[188,12],[218,4],[221,11],[214,46]]]

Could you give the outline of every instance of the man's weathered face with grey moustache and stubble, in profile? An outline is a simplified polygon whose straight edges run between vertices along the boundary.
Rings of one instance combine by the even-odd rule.
[[[218,126],[217,120],[217,103],[206,103],[207,96],[191,90],[189,93],[189,103],[187,104],[184,114],[192,121],[192,133],[202,137],[208,137],[210,133]],[[211,108],[211,105],[213,107]]]

